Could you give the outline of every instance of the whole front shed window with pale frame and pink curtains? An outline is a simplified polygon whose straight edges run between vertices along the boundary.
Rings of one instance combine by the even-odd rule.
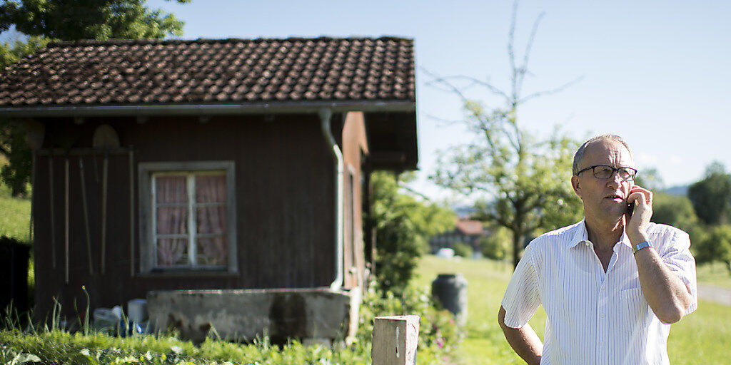
[[[140,272],[236,272],[232,161],[140,163]]]

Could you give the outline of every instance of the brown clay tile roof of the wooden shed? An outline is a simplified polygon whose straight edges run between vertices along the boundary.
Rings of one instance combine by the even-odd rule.
[[[414,101],[414,42],[58,42],[0,71],[0,107]]]

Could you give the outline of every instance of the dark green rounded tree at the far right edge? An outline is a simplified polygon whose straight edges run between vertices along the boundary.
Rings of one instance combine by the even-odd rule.
[[[705,178],[688,188],[688,198],[698,218],[706,224],[729,223],[731,220],[731,175],[719,162],[711,163]]]

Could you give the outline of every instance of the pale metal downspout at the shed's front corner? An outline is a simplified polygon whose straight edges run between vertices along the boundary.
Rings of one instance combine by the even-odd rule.
[[[330,284],[330,290],[337,291],[343,285],[343,153],[340,152],[338,143],[335,142],[332,131],[330,131],[330,118],[333,111],[327,108],[320,109],[317,114],[322,126],[322,136],[325,137],[327,147],[333,150],[335,155],[335,280]]]

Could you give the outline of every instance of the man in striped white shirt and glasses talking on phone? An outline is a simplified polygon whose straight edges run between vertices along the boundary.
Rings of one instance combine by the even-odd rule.
[[[574,155],[584,219],[526,247],[498,314],[528,364],[669,364],[670,324],[697,307],[695,261],[688,234],[650,222],[652,193],[635,185],[636,173],[615,135]],[[539,304],[543,344],[527,324]]]

